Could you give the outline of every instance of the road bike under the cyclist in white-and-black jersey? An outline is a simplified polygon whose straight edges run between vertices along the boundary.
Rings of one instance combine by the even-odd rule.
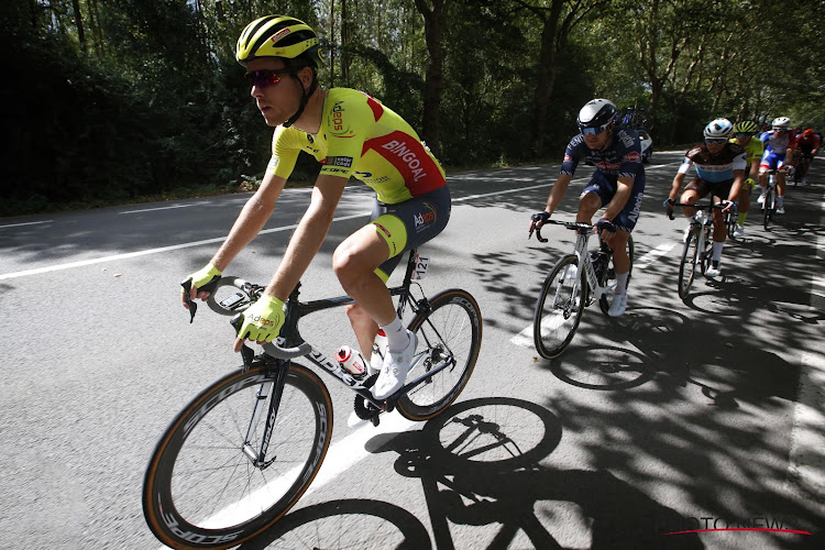
[[[690,207],[694,208],[696,212],[691,218],[691,224],[688,228],[684,238],[684,249],[682,250],[682,260],[679,263],[679,297],[685,299],[688,293],[693,284],[693,278],[696,273],[696,267],[700,268],[702,275],[705,274],[707,268],[711,266],[711,258],[713,256],[713,218],[705,213],[705,210],[724,209],[725,205],[717,202],[715,205],[697,202],[664,202],[666,208],[668,205],[671,207]],[[725,227],[728,235],[733,233],[730,229],[732,223],[736,223],[736,210],[735,207],[728,212],[725,212]],[[668,210],[668,218],[673,219],[673,211]]]

